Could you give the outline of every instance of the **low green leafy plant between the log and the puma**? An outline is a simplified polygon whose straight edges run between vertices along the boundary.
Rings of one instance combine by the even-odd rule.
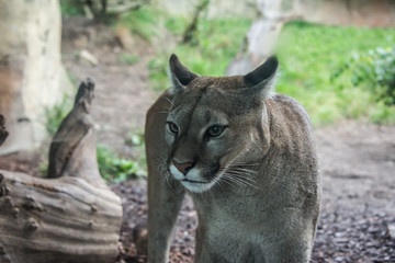
[[[136,179],[142,174],[138,163],[120,158],[113,150],[104,146],[97,148],[99,170],[108,183],[119,183],[128,179]]]

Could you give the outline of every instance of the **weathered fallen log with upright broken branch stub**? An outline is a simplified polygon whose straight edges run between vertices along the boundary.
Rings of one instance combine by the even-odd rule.
[[[0,170],[0,262],[115,261],[122,206],[99,173],[92,98],[82,83],[54,136],[49,179]]]

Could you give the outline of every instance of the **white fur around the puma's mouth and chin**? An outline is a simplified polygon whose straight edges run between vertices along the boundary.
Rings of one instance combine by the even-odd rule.
[[[183,175],[173,164],[170,164],[170,173],[171,175],[180,181],[180,183],[189,191],[194,193],[202,193],[204,191],[210,190],[216,182],[216,180],[213,180],[208,183],[194,183],[194,182],[188,182],[182,180],[191,180],[191,181],[198,181],[198,182],[204,182],[204,180],[201,178],[201,171],[198,168],[191,169],[187,173],[187,175]]]

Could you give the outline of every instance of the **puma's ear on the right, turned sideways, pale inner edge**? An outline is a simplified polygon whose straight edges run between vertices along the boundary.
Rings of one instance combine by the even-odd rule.
[[[248,88],[259,90],[267,98],[273,89],[278,67],[278,58],[271,56],[261,66],[244,76],[244,81]]]

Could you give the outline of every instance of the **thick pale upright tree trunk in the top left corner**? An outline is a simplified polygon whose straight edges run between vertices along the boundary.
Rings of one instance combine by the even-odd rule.
[[[60,28],[59,1],[0,0],[0,113],[10,132],[0,155],[36,149],[47,138],[45,110],[72,93]]]

